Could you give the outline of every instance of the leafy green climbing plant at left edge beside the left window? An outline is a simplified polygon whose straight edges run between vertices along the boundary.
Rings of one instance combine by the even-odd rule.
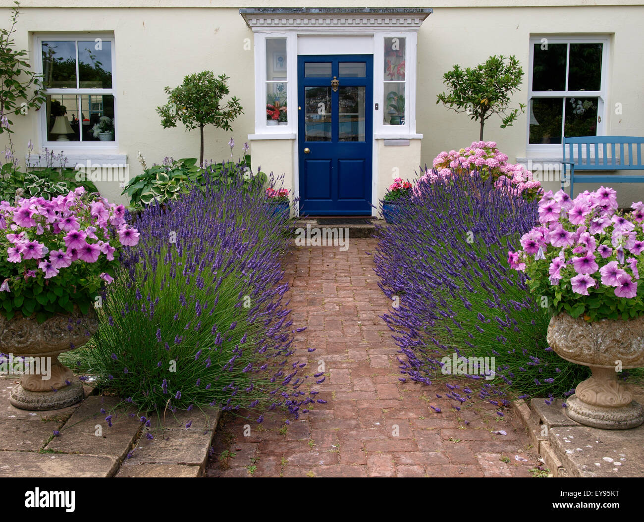
[[[10,18],[11,25],[8,29],[0,29],[0,113],[3,122],[0,124],[0,134],[11,133],[8,118],[12,114],[26,115],[29,108],[37,109],[43,104],[43,80],[40,75],[30,70],[29,62],[23,57],[27,51],[15,50],[12,35],[15,33],[15,24],[18,21],[18,2],[14,2]],[[22,77],[22,78],[21,78]],[[33,91],[32,91],[33,89]],[[20,100],[24,100],[20,102]]]

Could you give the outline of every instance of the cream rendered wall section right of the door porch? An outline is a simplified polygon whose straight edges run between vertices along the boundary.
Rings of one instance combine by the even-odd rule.
[[[643,21],[641,5],[477,9],[437,6],[422,25],[418,38],[417,131],[424,135],[423,164],[431,165],[440,151],[459,149],[478,140],[478,122],[436,104],[437,93],[444,90],[442,74],[453,64],[475,66],[489,55],[514,54],[526,72],[514,106],[518,102],[527,104],[531,35],[609,35],[605,133],[644,136],[644,68],[639,65],[644,58]],[[621,115],[614,113],[617,102],[623,106]],[[512,127],[500,129],[499,125],[500,119],[491,117],[485,126],[484,139],[496,141],[510,160],[525,157],[527,114]],[[544,184],[549,189],[559,188],[558,183]],[[614,188],[621,205],[644,199],[642,185],[616,183]],[[576,194],[586,189],[594,190],[596,185],[574,185]]]

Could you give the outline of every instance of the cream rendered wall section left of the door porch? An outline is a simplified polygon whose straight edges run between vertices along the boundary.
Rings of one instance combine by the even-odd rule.
[[[0,10],[3,27],[8,16],[8,10]],[[138,151],[147,165],[161,163],[165,156],[198,158],[199,130],[186,132],[183,126],[163,129],[155,109],[167,102],[164,87],[174,88],[185,75],[203,70],[231,77],[231,95],[240,98],[245,112],[232,124],[230,133],[205,127],[204,158],[218,162],[230,158],[227,144],[231,136],[236,142],[235,159],[242,156],[242,145],[254,127],[254,73],[252,32],[238,9],[62,10],[23,6],[17,29],[17,46],[28,49],[31,56],[33,41],[28,32],[114,32],[118,147],[113,152],[128,155],[130,177],[142,172]],[[244,39],[250,39],[250,46]],[[244,50],[245,43],[248,50]],[[41,145],[39,120],[34,111],[12,119],[15,123],[12,139],[17,145],[16,152],[23,157],[30,138],[36,147]],[[5,136],[0,136],[0,147],[5,144]],[[71,149],[65,152],[71,153]],[[100,163],[100,154],[88,157]],[[97,186],[110,201],[126,201],[120,197],[122,189],[118,182]]]

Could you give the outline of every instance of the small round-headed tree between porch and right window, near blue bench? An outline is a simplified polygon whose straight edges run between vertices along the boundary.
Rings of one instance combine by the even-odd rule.
[[[502,118],[501,128],[511,126],[519,113],[526,112],[526,104],[508,111],[510,95],[519,90],[523,69],[514,56],[491,56],[476,68],[462,70],[455,65],[443,75],[443,83],[450,88],[450,94],[440,93],[436,103],[457,113],[468,113],[471,120],[480,121],[479,140],[483,140],[483,127],[493,114]]]

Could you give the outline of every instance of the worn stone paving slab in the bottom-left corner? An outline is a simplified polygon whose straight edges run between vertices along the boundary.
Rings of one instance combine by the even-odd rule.
[[[117,469],[118,460],[107,456],[0,452],[0,477],[111,477]]]

